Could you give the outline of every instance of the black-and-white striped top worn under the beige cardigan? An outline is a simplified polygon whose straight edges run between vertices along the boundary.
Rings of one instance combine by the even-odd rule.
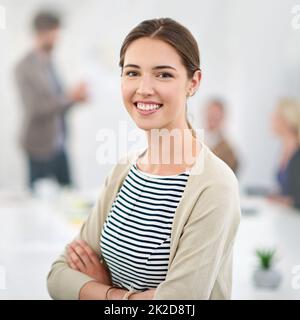
[[[146,290],[165,279],[173,218],[188,177],[189,171],[159,176],[131,166],[100,238],[113,285]]]

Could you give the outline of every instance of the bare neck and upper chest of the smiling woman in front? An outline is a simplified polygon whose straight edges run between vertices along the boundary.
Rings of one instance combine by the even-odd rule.
[[[189,170],[199,155],[201,144],[191,129],[151,130],[147,132],[148,148],[138,159],[140,170],[157,175],[173,175]]]

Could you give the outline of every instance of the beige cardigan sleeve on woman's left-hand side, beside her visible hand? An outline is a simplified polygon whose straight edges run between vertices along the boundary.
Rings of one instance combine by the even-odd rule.
[[[98,253],[100,226],[102,225],[102,211],[105,201],[106,186],[109,177],[106,178],[101,187],[101,191],[92,212],[86,222],[82,225],[81,230],[75,239],[85,240],[90,247]],[[89,281],[94,280],[88,275],[73,270],[68,266],[66,260],[66,247],[64,252],[52,264],[51,270],[47,277],[48,292],[53,299],[57,300],[77,300],[81,288]]]

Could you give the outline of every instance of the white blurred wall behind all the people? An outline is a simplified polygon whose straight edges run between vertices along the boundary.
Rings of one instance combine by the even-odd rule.
[[[120,120],[134,128],[120,96],[118,54],[124,36],[144,19],[165,16],[182,22],[199,41],[203,81],[190,101],[195,124],[201,126],[206,98],[223,96],[230,106],[228,131],[244,160],[242,184],[272,184],[278,144],[270,113],[279,96],[300,92],[300,30],[291,27],[297,1],[0,0],[7,16],[7,28],[0,30],[0,187],[25,184],[26,163],[16,144],[21,108],[12,72],[31,46],[32,14],[49,3],[65,17],[56,61],[66,84],[82,78],[93,83],[93,101],[69,117],[78,186],[97,187],[110,167],[97,164],[97,132],[116,130]]]

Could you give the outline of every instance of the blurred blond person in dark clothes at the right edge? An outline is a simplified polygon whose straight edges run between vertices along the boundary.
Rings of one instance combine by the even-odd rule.
[[[277,182],[279,193],[271,201],[300,209],[300,103],[281,99],[272,117],[272,129],[281,142]]]

